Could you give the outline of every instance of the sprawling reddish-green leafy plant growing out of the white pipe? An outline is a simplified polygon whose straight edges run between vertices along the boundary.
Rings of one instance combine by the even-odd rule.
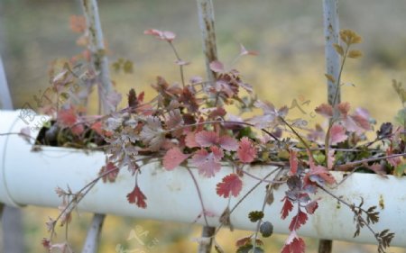
[[[404,126],[383,123],[376,138],[368,141],[365,133],[373,130],[374,122],[369,113],[361,108],[351,113],[350,104],[333,103],[320,104],[315,109],[326,118],[328,128],[324,130],[316,125],[309,129],[304,120],[289,119],[288,106],[277,108],[257,99],[252,86],[244,82],[239,71],[226,68],[218,60],[210,64],[216,73],[215,82],[205,81],[202,77],[186,80],[183,68],[188,63],[180,59],[173,45],[176,35],[159,30],[144,33],[170,44],[176,56],[175,63],[180,68],[181,82],[170,83],[157,77],[152,85],[157,95],[151,101],[145,102],[143,92],[131,89],[127,95],[128,106],[123,110],[88,121],[75,110],[74,104],[70,104],[58,111],[54,124],[69,129],[73,135],[84,134],[84,126],[87,126],[106,141],[106,166],[101,168],[99,178],[113,183],[119,170],[128,168],[135,178],[134,188],[126,196],[129,203],[139,208],[148,207],[147,196],[137,181],[142,170],[138,164],[141,159],[147,162],[161,160],[163,168],[168,171],[177,167],[197,167],[198,174],[204,177],[216,176],[222,165],[227,164],[234,168],[234,172],[224,176],[216,187],[217,195],[224,198],[240,196],[244,187],[242,179],[250,176],[246,165],[276,165],[280,181],[267,185],[263,210],[250,213],[249,219],[258,222],[258,229],[254,236],[237,241],[237,252],[253,252],[253,248],[254,252],[263,252],[263,242],[257,238],[257,233],[268,237],[273,230],[270,221],[263,221],[264,206],[273,202],[273,189],[287,184],[288,190],[280,200],[283,202],[281,219],[291,217],[290,235],[281,252],[301,253],[305,242],[297,231],[318,209],[320,200],[312,199],[314,194],[319,189],[328,191],[328,185],[337,184],[330,171],[363,170],[382,176],[405,173],[402,158],[406,147]],[[337,44],[335,47],[343,59],[343,67],[346,58],[355,59],[362,55],[358,50],[350,50],[351,45],[361,42],[361,37],[349,30],[340,32],[340,37],[343,46]],[[254,54],[241,46],[238,58]],[[120,59],[114,68],[128,72],[133,66]],[[338,77],[326,77],[342,86],[341,71]],[[401,85],[396,83],[394,87],[403,99]],[[229,113],[232,105],[236,105],[238,114]],[[247,113],[258,109],[262,113],[254,117]],[[359,206],[346,205],[355,213],[355,236],[365,225],[372,230],[370,223],[378,221],[379,214],[375,207],[364,209],[362,203]],[[220,220],[231,226],[227,217],[233,210],[227,207]],[[206,216],[208,210],[203,208],[202,213]],[[363,214],[366,220],[362,218]],[[383,252],[390,245],[393,234],[383,230],[374,232],[374,235]],[[221,252],[218,245],[216,248]]]

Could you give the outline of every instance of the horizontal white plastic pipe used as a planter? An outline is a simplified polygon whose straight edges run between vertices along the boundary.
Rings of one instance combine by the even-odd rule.
[[[19,131],[25,124],[18,119],[18,112],[0,112],[0,132]],[[43,147],[42,151],[32,152],[32,147],[18,136],[0,137],[1,182],[0,202],[14,205],[39,205],[58,207],[60,199],[55,187],[78,191],[97,176],[105,162],[102,152],[85,153],[77,149]],[[263,177],[271,167],[252,167],[249,172]],[[227,199],[216,194],[216,185],[223,176],[231,173],[230,167],[222,167],[215,177],[198,176],[203,202],[215,217],[208,218],[210,225],[218,225],[218,217],[227,206]],[[334,173],[337,180],[342,174]],[[97,183],[94,189],[79,203],[79,209],[88,212],[112,213],[165,221],[193,222],[201,213],[198,193],[186,169],[164,171],[160,163],[142,167],[138,182],[147,197],[147,208],[141,209],[127,203],[126,194],[134,188],[134,177],[123,169],[114,184]],[[230,206],[249,191],[258,181],[244,176],[243,191],[238,198],[232,198]],[[291,216],[281,220],[281,199],[286,186],[274,193],[274,203],[265,208],[265,220],[271,221],[277,233],[287,233]],[[352,203],[364,198],[364,207],[378,206],[380,221],[374,224],[374,230],[390,229],[395,233],[392,246],[406,247],[406,178],[369,174],[349,176],[345,183],[332,190],[338,196]],[[261,210],[265,185],[260,185],[243,203],[235,209],[231,222],[237,229],[254,230],[255,223],[248,220],[248,213]],[[323,239],[341,239],[362,243],[376,243],[372,233],[364,228],[357,238],[353,238],[355,224],[353,213],[344,205],[338,207],[337,200],[329,195],[318,193],[321,197],[318,210],[309,215],[309,221],[299,230],[302,236]],[[383,208],[380,207],[380,202]],[[294,214],[294,213],[293,213]],[[200,218],[198,223],[204,224]]]

